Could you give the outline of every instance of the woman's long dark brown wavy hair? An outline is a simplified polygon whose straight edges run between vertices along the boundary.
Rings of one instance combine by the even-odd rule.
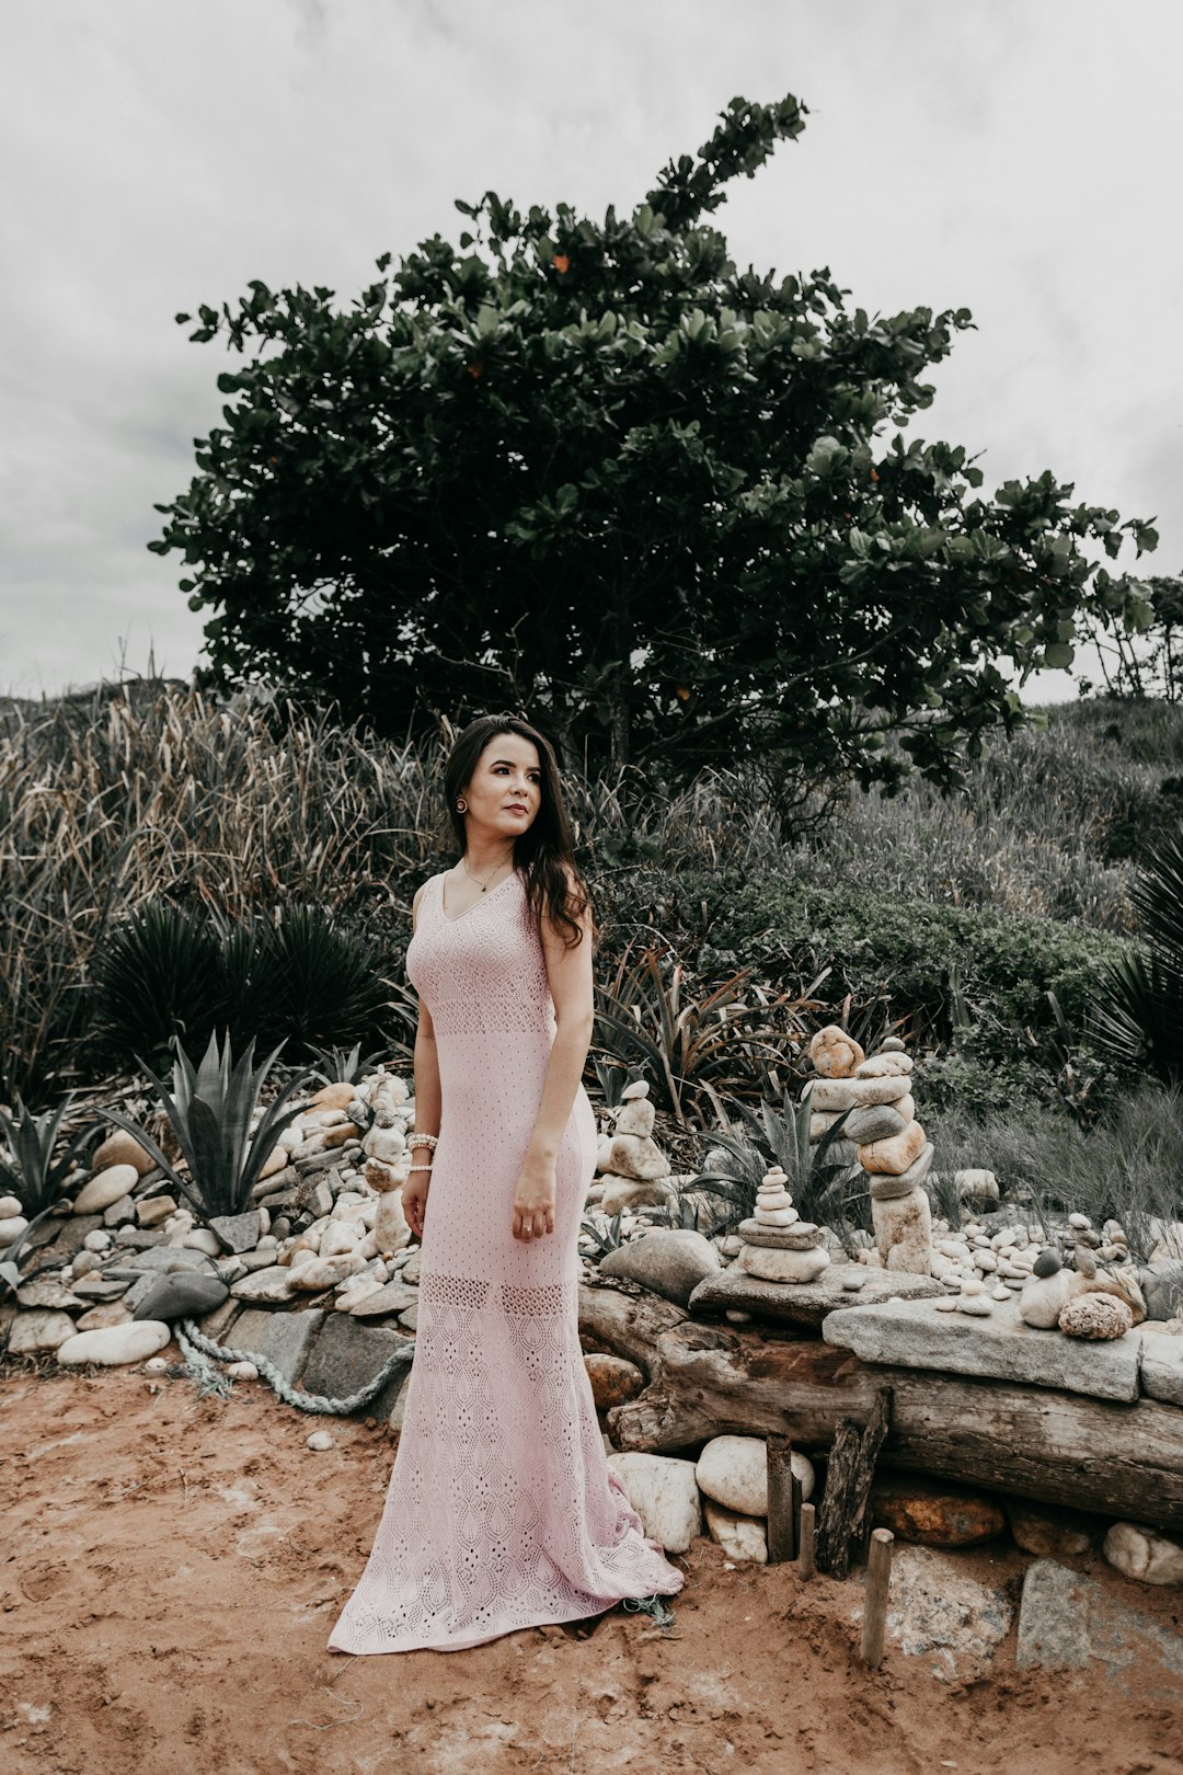
[[[584,935],[578,919],[589,911],[591,895],[575,863],[575,840],[568,809],[562,804],[555,749],[546,735],[532,728],[529,721],[521,721],[518,715],[477,715],[458,735],[443,772],[447,816],[456,843],[463,856],[465,816],[458,813],[456,802],[468,788],[481,753],[498,733],[516,733],[537,747],[543,772],[539,806],[529,831],[514,840],[514,868],[525,877],[527,898],[536,918],[541,921],[544,912],[559,927],[562,941],[571,950]]]

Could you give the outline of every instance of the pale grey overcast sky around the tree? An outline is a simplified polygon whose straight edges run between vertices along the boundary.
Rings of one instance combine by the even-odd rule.
[[[906,437],[1156,517],[1140,570],[1178,573],[1181,66],[1179,0],[4,0],[0,689],[197,659],[145,545],[229,366],[177,311],[348,305],[490,186],[628,209],[734,94],[809,119],[733,186],[733,256],[970,307]]]

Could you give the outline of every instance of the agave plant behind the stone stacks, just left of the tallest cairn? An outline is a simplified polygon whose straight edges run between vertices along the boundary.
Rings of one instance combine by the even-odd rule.
[[[834,1143],[842,1138],[850,1109],[830,1124],[816,1145],[809,1140],[809,1099],[795,1104],[786,1090],[780,1109],[768,1102],[761,1102],[759,1113],[741,1102],[734,1109],[747,1124],[747,1138],[727,1129],[715,1132],[715,1150],[722,1150],[725,1159],[688,1184],[688,1189],[702,1189],[727,1203],[724,1227],[736,1227],[756,1212],[756,1191],[770,1164],[779,1164],[786,1173],[789,1195],[803,1221],[841,1225],[850,1219],[853,1198],[848,1198],[844,1184],[851,1168],[834,1157]]]

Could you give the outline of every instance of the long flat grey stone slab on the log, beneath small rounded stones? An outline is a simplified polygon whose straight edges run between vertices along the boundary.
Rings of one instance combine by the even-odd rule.
[[[885,1301],[830,1314],[821,1335],[862,1361],[1054,1386],[1091,1399],[1139,1397],[1139,1331],[1094,1344],[1062,1331],[1036,1331],[1018,1317],[1016,1301],[991,1305],[990,1319],[968,1319],[938,1314],[931,1301]]]

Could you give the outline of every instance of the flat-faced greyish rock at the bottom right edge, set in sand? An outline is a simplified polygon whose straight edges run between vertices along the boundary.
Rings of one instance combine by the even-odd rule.
[[[1183,1642],[1171,1628],[1126,1608],[1094,1578],[1041,1558],[1023,1580],[1015,1665],[1020,1670],[1084,1670],[1110,1683],[1137,1676],[1139,1695],[1178,1700]]]

